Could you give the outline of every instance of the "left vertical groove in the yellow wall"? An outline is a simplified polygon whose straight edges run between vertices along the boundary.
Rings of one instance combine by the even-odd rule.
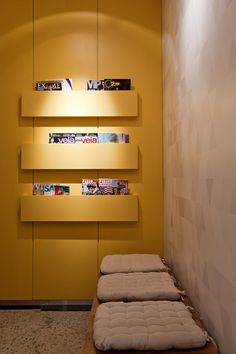
[[[34,0],[32,0],[32,53],[33,53],[33,89],[34,89],[34,83],[35,83],[35,11],[34,11]],[[35,127],[35,117],[33,117],[33,144],[35,142],[35,136],[34,136],[34,127]],[[33,175],[33,183],[35,183],[35,171],[33,170],[32,172]],[[32,223],[32,299],[34,299],[34,233],[35,233],[35,224],[34,222]]]

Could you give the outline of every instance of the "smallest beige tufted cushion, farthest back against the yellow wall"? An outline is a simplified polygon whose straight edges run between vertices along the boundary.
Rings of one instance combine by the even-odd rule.
[[[158,254],[115,254],[103,258],[100,270],[103,274],[160,272],[167,267]]]

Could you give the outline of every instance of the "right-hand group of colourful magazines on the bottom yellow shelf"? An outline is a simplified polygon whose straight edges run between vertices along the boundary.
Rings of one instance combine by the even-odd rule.
[[[82,179],[83,195],[125,195],[128,194],[126,179]]]

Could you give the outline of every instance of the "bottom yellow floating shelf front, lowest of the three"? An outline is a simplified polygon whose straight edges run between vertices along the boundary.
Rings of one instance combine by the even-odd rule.
[[[138,221],[135,195],[23,196],[21,221]]]

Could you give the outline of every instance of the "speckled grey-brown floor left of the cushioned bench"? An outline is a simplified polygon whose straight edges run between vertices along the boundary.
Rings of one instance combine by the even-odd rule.
[[[0,353],[81,354],[89,314],[0,310]]]

